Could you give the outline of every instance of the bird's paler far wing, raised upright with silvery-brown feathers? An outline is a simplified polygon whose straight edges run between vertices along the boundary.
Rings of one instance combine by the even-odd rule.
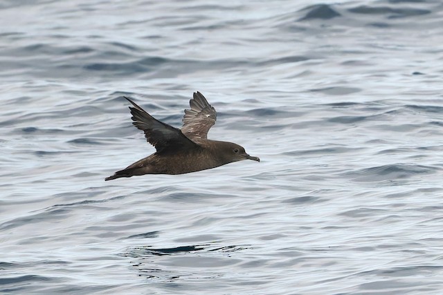
[[[194,93],[194,98],[189,101],[189,105],[191,108],[185,110],[181,132],[191,140],[206,140],[209,129],[217,120],[217,112],[198,91]]]

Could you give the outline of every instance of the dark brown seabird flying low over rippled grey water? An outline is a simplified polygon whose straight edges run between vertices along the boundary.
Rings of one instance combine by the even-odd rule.
[[[143,174],[190,173],[242,160],[260,162],[238,144],[207,139],[217,112],[199,92],[190,100],[190,110],[185,110],[181,129],[154,119],[131,99],[125,98],[134,106],[129,106],[132,124],[145,133],[147,142],[155,147],[156,152],[105,180]]]

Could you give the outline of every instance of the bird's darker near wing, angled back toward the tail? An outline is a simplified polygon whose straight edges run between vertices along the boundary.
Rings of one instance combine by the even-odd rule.
[[[152,144],[157,153],[168,151],[168,149],[192,149],[197,146],[188,137],[181,133],[180,129],[156,120],[152,115],[146,113],[131,99],[125,97],[133,106],[129,106],[132,114],[132,124],[145,133],[147,142]]]

